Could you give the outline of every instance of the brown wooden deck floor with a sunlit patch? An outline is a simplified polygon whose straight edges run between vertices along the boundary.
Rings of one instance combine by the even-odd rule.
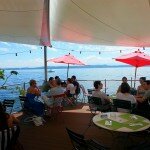
[[[55,120],[46,118],[43,126],[20,123],[20,141],[25,150],[71,150],[72,145],[65,129],[68,127],[77,133],[84,133],[87,139],[94,138],[100,141],[112,150],[123,149],[120,143],[122,139],[117,139],[116,143],[107,130],[100,129],[94,124],[88,128],[91,118],[88,106],[78,105],[63,111]]]

